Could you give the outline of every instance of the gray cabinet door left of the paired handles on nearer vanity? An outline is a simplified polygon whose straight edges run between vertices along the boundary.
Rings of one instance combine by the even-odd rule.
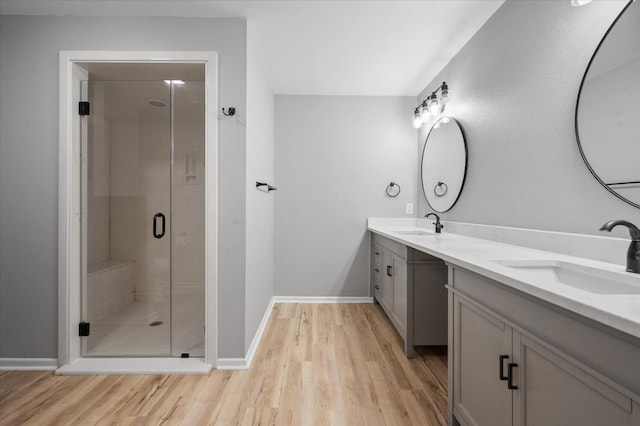
[[[511,354],[511,328],[457,295],[453,328],[456,418],[463,425],[510,425],[511,390],[500,379],[500,356]],[[505,374],[509,362],[503,360]]]

